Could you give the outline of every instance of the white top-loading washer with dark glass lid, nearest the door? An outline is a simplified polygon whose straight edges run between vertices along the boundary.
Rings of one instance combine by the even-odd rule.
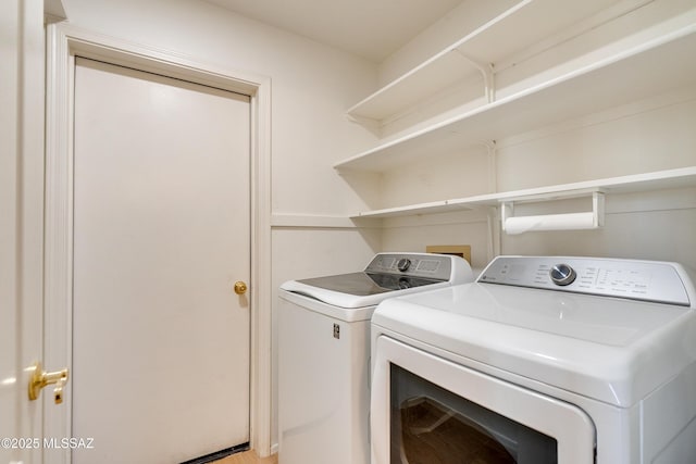
[[[283,284],[279,462],[369,463],[370,317],[376,304],[472,280],[459,256],[378,253],[362,272]]]

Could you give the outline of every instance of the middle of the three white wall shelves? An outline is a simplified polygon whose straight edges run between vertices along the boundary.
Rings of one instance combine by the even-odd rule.
[[[620,106],[696,80],[696,22],[334,165],[386,171],[417,158]]]

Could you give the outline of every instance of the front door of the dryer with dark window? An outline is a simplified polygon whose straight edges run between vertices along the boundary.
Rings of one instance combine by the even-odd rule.
[[[591,464],[595,455],[595,427],[579,407],[386,336],[376,342],[371,425],[376,464]]]

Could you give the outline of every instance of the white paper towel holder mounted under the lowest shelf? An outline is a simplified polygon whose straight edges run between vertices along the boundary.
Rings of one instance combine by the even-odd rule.
[[[551,199],[555,200],[556,198]],[[543,199],[535,199],[543,201]],[[514,202],[530,199],[505,201],[500,205],[502,230],[508,235],[533,230],[587,230],[605,225],[605,195],[592,193],[592,211],[585,213],[546,214],[538,216],[514,216]]]

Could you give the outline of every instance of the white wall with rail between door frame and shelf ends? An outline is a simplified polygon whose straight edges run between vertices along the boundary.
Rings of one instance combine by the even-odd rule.
[[[70,22],[90,32],[271,78],[274,287],[290,278],[355,271],[378,251],[378,231],[341,218],[374,202],[377,187],[332,167],[374,140],[344,115],[376,85],[372,63],[197,0],[64,0],[64,5]],[[361,188],[353,189],[356,184]],[[275,324],[270,329],[275,333]],[[272,442],[277,442],[275,411]]]

